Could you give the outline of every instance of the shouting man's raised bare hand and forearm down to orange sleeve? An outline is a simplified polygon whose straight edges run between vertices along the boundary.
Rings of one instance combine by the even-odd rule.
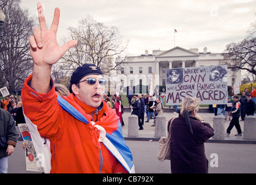
[[[34,35],[30,36],[30,54],[34,61],[31,87],[39,93],[50,90],[50,73],[55,64],[65,52],[77,44],[70,40],[64,46],[58,46],[56,33],[60,20],[60,9],[54,11],[53,23],[49,30],[46,29],[45,15],[42,3],[38,3],[38,17],[40,28],[34,28]]]

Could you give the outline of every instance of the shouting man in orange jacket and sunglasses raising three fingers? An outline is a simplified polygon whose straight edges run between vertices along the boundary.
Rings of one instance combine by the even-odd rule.
[[[30,36],[34,69],[25,80],[21,96],[25,117],[35,125],[42,138],[50,140],[50,172],[134,172],[131,152],[125,145],[119,117],[103,101],[105,79],[98,66],[85,64],[72,74],[71,94],[61,100],[72,108],[71,112],[67,112],[70,108],[66,111],[58,102],[50,77],[51,68],[77,42],[70,40],[62,47],[57,45],[58,8],[55,9],[49,30],[46,30],[41,3],[38,3],[38,14],[41,28],[36,27],[34,35]],[[79,112],[86,121],[76,119],[72,112]],[[116,144],[105,137],[116,134],[116,131],[119,131],[117,143],[125,149],[124,154],[119,155],[120,150],[114,147]],[[130,162],[127,165],[123,161]]]

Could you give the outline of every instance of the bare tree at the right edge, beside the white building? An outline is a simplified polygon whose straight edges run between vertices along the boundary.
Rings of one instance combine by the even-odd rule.
[[[249,36],[238,43],[230,43],[226,45],[224,61],[222,64],[227,64],[228,68],[233,71],[239,69],[246,70],[252,75],[256,75],[256,22],[252,24],[252,29],[249,31]]]

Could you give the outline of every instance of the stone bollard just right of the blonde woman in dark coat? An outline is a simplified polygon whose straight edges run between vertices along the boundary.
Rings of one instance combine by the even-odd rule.
[[[225,117],[213,117],[214,139],[225,139]]]

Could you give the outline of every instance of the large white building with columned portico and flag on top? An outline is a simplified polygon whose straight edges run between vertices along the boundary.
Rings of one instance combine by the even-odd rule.
[[[116,78],[116,86],[127,87],[138,84],[147,86],[151,83],[152,73],[156,76],[157,84],[165,86],[166,69],[220,65],[224,57],[222,53],[207,52],[206,47],[200,53],[197,48],[187,50],[177,46],[167,51],[153,50],[152,54],[146,50],[141,56],[117,58],[116,60],[124,60]],[[241,71],[233,72],[228,69],[228,86],[238,82],[241,82]]]

